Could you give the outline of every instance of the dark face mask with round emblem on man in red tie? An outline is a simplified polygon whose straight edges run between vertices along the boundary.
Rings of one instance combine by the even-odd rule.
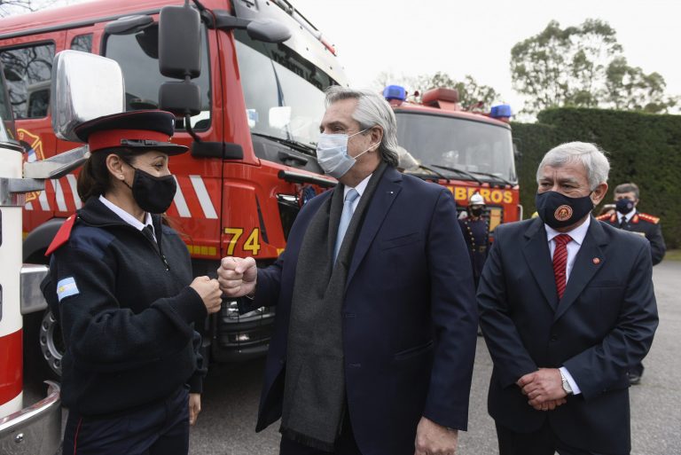
[[[591,192],[583,198],[568,198],[560,192],[537,192],[536,213],[553,229],[575,224],[593,209]]]

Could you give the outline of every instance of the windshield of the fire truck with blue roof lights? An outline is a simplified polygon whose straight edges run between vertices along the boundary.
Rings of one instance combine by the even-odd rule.
[[[511,131],[487,122],[447,115],[396,112],[397,141],[420,164],[458,169],[482,181],[517,182]],[[453,173],[458,180],[468,180]]]

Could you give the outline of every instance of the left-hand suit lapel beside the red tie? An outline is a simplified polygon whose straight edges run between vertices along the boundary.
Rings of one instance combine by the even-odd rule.
[[[551,251],[549,242],[546,239],[544,222],[536,218],[525,231],[527,242],[522,248],[522,254],[528,263],[529,270],[532,271],[536,283],[544,294],[546,302],[549,302],[553,310],[558,308],[558,291],[556,290],[556,278],[553,277],[553,265],[551,262]]]

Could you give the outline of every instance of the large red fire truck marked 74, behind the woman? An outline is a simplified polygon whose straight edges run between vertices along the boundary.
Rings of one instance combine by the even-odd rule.
[[[126,109],[178,115],[173,140],[191,153],[170,162],[178,189],[168,217],[184,233],[195,274],[215,275],[224,255],[270,263],[302,203],[335,184],[315,148],[323,90],[347,85],[346,76],[333,46],[286,0],[100,1],[0,20],[0,61],[27,161],[74,148],[51,129],[52,58],[65,49],[117,61]],[[27,194],[24,262],[44,263],[81,205],[76,173]],[[272,311],[239,316],[236,302],[224,302],[204,328],[212,358],[261,355]],[[25,315],[24,326],[25,349],[38,349],[27,360],[59,373],[51,313]]]

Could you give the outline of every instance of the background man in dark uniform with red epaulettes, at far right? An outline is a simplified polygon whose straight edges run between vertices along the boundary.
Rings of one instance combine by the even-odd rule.
[[[666,247],[662,237],[660,218],[657,216],[641,213],[636,209],[639,201],[637,184],[619,184],[614,188],[615,213],[599,216],[598,219],[624,231],[636,232],[645,236],[650,242],[650,253],[653,265],[661,263]],[[629,372],[629,381],[632,385],[641,382],[643,376],[643,364],[634,365]]]

